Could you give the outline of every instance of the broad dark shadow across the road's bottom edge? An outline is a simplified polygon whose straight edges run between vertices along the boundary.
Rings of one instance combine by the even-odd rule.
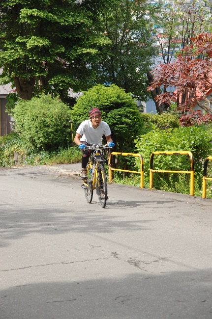
[[[43,266],[47,271],[48,266]],[[211,319],[212,270],[65,282],[25,280],[0,292],[1,319]],[[78,266],[81,274],[89,262]],[[44,270],[44,269],[43,269]],[[25,269],[26,278],[31,270]],[[41,269],[42,276],[42,269]],[[43,276],[42,276],[43,278]],[[195,284],[194,284],[195,282]]]

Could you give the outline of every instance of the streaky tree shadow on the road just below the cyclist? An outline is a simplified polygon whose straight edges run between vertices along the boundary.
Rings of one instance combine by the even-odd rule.
[[[135,207],[139,202],[121,202],[122,207]],[[111,203],[110,203],[111,204]],[[120,205],[115,202],[114,205]],[[142,203],[140,202],[140,205]],[[113,205],[113,204],[111,204]],[[3,206],[3,205],[1,205]],[[150,229],[151,220],[123,220],[120,215],[108,214],[109,211],[101,209],[96,202],[88,206],[86,211],[72,208],[44,207],[11,207],[1,210],[0,235],[1,246],[9,244],[8,240],[20,239],[33,233],[62,234],[69,232],[82,233],[111,233],[118,230],[144,231]],[[120,207],[119,207],[120,208]],[[96,209],[96,211],[95,211]]]

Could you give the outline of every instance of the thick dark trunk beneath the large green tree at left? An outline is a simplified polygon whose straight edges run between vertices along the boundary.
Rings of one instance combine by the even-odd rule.
[[[31,100],[36,78],[32,77],[30,80],[23,80],[15,77],[13,80],[19,97],[23,100]]]

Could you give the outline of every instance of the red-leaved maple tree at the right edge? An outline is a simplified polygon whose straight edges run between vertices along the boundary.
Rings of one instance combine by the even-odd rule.
[[[159,86],[176,87],[175,92],[159,94],[155,100],[159,105],[176,102],[182,126],[212,122],[212,99],[207,98],[212,93],[212,33],[192,38],[175,61],[158,65],[148,91]],[[195,106],[200,109],[194,110]]]

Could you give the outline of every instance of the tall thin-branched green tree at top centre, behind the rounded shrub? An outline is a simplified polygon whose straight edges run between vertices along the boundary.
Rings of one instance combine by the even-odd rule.
[[[97,82],[116,84],[135,98],[147,98],[147,72],[157,54],[151,40],[151,16],[156,7],[144,0],[121,0],[101,11],[108,54],[96,65]]]

